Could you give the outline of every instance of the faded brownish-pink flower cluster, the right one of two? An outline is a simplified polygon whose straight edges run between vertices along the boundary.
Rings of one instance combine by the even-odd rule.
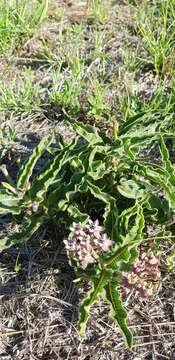
[[[152,298],[156,282],[160,280],[159,258],[152,252],[142,254],[139,260],[133,265],[130,272],[124,274],[122,279],[123,290],[134,289],[136,295],[141,298]]]

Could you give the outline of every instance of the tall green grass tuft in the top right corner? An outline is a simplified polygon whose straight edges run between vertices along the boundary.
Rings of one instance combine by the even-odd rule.
[[[175,8],[173,0],[146,1],[138,6],[136,30],[142,36],[158,75],[173,74],[175,68]]]

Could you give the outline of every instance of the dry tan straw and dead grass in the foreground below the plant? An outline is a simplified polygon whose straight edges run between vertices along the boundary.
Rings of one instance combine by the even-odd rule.
[[[174,274],[162,275],[153,301],[138,301],[134,294],[126,300],[135,340],[132,351],[124,349],[103,302],[94,306],[81,341],[77,311],[87,284],[73,283],[60,240],[55,225],[50,224],[19,250],[1,254],[1,358],[173,359]],[[21,270],[16,273],[18,255]]]

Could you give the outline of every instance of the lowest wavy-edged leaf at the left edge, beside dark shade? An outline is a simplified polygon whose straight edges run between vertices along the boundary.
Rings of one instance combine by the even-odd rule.
[[[42,223],[42,216],[30,216],[23,222],[18,232],[10,234],[9,236],[0,240],[0,249],[3,250],[29,240]]]

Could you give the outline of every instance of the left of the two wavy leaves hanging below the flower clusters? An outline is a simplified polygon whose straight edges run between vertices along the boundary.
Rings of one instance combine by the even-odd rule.
[[[84,335],[86,331],[86,325],[90,318],[90,308],[91,306],[98,301],[100,295],[103,292],[104,286],[109,280],[109,273],[104,272],[101,274],[99,279],[94,280],[93,288],[87,294],[87,297],[84,299],[80,305],[80,319],[79,319],[79,333]]]

